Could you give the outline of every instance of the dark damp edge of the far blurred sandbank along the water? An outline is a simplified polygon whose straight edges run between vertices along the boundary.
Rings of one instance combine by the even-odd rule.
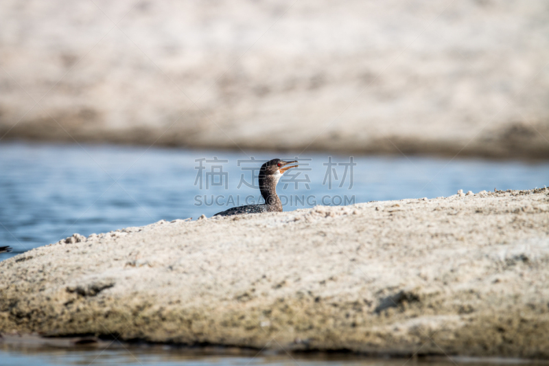
[[[338,141],[337,144],[331,141],[323,141],[319,144],[292,144],[288,146],[272,146],[266,144],[255,144],[253,141],[240,141],[238,145],[231,144],[212,144],[200,143],[200,141],[146,141],[146,140],[128,140],[108,137],[102,135],[100,131],[94,137],[88,135],[75,134],[75,139],[69,136],[66,138],[34,138],[23,133],[18,135],[10,131],[3,141],[15,144],[86,144],[86,145],[108,145],[108,146],[130,146],[130,147],[154,147],[166,149],[184,149],[184,150],[216,150],[228,152],[246,152],[253,154],[254,152],[292,152],[302,151],[305,149],[307,153],[325,153],[327,155],[360,155],[372,157],[432,157],[435,159],[445,159],[448,157],[458,157],[460,159],[486,159],[493,161],[548,161],[549,160],[549,144],[534,144],[533,146],[509,146],[509,141],[496,141],[495,143],[487,144],[486,141],[474,141],[473,144],[463,141],[444,142],[444,141],[417,141],[410,139],[400,140],[398,145],[391,144],[389,139],[383,141],[364,141],[363,143],[355,143],[354,141]],[[0,136],[3,135],[0,130]],[[150,136],[161,135],[161,132],[152,130]],[[546,146],[544,146],[546,145]]]

